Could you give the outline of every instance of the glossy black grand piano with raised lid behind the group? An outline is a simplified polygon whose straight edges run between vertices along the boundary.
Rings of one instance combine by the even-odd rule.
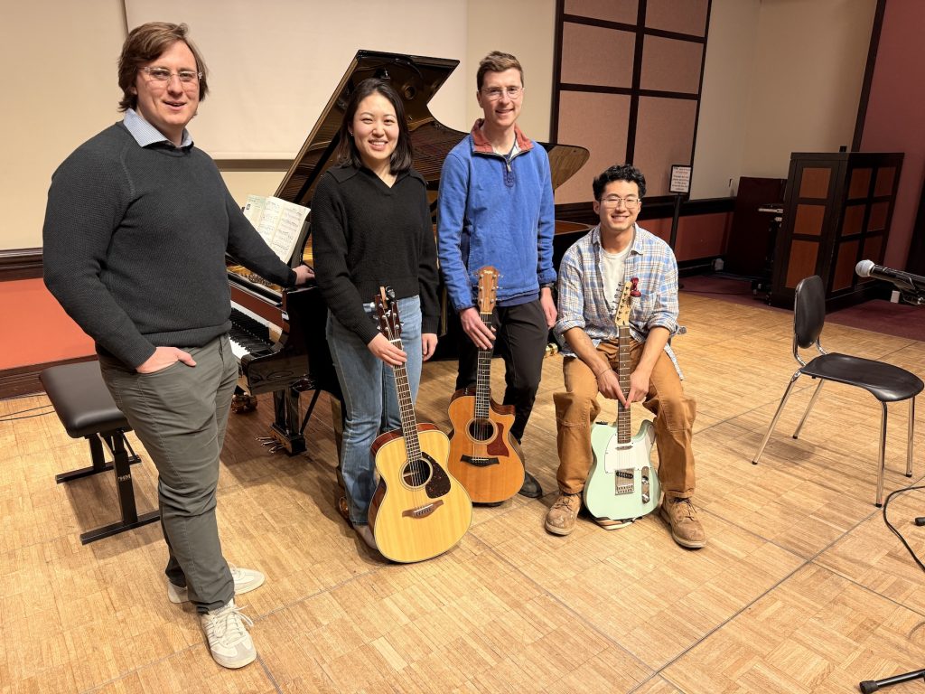
[[[414,148],[414,168],[427,181],[427,196],[436,223],[440,168],[450,149],[466,133],[441,124],[431,115],[427,105],[458,65],[458,60],[446,58],[357,52],[274,194],[291,203],[312,206],[314,189],[322,174],[337,164],[334,152],[339,143],[338,130],[350,94],[360,82],[376,77],[390,81],[404,98]],[[571,178],[588,157],[583,147],[547,143],[543,143],[543,147],[549,154],[553,188]],[[586,225],[557,222],[557,233],[584,229]],[[314,265],[311,217],[302,229],[302,239],[296,244],[289,262],[293,267],[302,262]],[[321,292],[314,286],[287,290],[266,284],[236,265],[233,259],[229,261],[228,282],[232,301],[231,340],[240,363],[240,389],[253,396],[272,392],[275,419],[268,442],[273,450],[290,455],[303,452],[302,431],[318,394],[327,391],[335,404],[340,399],[337,376],[325,341],[327,306]],[[455,319],[446,314],[444,311],[442,333],[452,331]],[[450,341],[441,341],[444,342]],[[305,418],[300,421],[299,394],[307,390],[313,390],[314,396]],[[335,428],[339,429],[337,407],[332,409]]]

